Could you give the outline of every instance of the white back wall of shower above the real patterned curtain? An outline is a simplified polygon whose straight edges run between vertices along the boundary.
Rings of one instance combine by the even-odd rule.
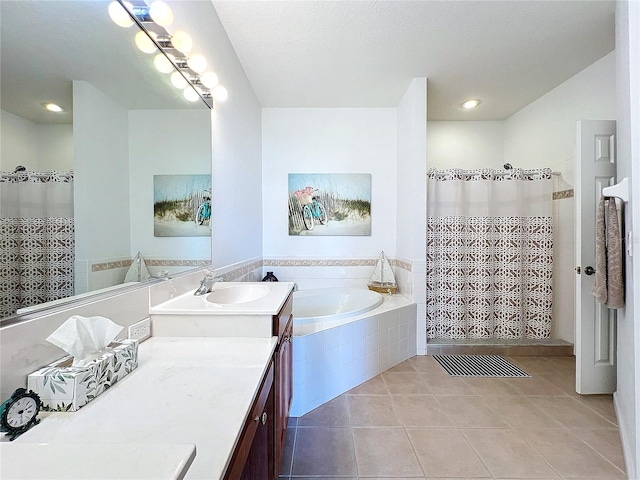
[[[504,142],[504,122],[428,122],[428,167],[502,168]]]

